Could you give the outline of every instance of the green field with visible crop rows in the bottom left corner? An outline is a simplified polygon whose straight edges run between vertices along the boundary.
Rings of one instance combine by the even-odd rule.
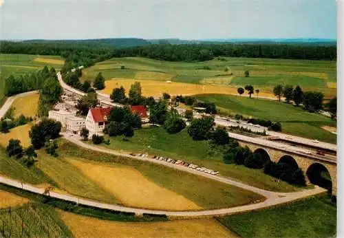
[[[8,210],[0,210],[4,237],[73,237],[56,210],[43,204],[28,204]],[[11,222],[10,222],[11,221]],[[25,232],[22,233],[22,222]]]

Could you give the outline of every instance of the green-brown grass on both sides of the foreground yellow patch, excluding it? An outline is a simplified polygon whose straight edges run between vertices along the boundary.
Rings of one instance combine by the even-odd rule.
[[[155,184],[186,197],[186,199],[202,208],[239,206],[262,199],[261,196],[250,191],[186,172],[158,166],[149,162],[131,161],[113,155],[85,151],[65,140],[61,140],[60,143],[59,158],[52,158],[40,151],[39,162],[32,169],[25,168],[14,158],[7,158],[4,149],[0,148],[1,174],[37,185],[52,184],[58,191],[102,202],[119,204],[120,202],[118,202],[116,197],[105,191],[102,184],[93,182],[87,175],[68,162],[68,158],[78,157],[83,158],[85,161],[110,162],[114,166],[116,164],[118,166],[131,166]],[[180,182],[175,182],[177,177]]]

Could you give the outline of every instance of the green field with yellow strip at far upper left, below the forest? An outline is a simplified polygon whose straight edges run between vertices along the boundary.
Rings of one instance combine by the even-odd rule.
[[[39,61],[37,61],[37,58]],[[42,59],[45,59],[45,61],[42,61]],[[19,76],[34,73],[39,69],[43,69],[45,65],[60,69],[63,66],[63,58],[60,56],[30,54],[0,54],[0,105],[1,102],[4,102],[5,78],[10,75]]]

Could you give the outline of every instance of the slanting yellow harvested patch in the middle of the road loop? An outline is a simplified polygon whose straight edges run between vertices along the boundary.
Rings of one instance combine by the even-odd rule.
[[[129,166],[75,159],[68,161],[126,206],[164,210],[202,209],[189,199],[151,182]]]

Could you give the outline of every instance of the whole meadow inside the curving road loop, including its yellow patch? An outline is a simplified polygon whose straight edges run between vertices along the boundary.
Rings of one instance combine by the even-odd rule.
[[[59,157],[39,151],[30,169],[0,148],[1,175],[111,204],[167,210],[202,210],[249,204],[260,195],[149,162],[86,151],[60,140]],[[92,160],[92,161],[91,161]],[[118,175],[121,175],[118,177]],[[175,182],[176,178],[180,182]]]

